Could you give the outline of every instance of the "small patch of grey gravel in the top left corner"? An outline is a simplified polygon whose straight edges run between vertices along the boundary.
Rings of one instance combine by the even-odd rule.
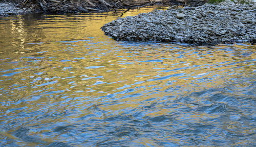
[[[32,13],[32,9],[18,8],[12,3],[0,3],[0,16]]]

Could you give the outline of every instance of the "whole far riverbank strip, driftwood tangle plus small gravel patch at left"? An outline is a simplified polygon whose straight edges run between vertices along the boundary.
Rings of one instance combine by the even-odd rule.
[[[7,0],[5,3],[0,2],[0,16],[10,16],[29,13],[49,13],[49,14],[66,14],[66,13],[86,13],[86,12],[106,12],[116,11],[117,9],[133,9],[138,7],[152,6],[163,4],[166,6],[200,6],[206,3],[203,0],[189,0],[181,2],[168,0],[147,0],[144,2],[134,0],[88,0],[88,1],[70,1],[57,0],[47,1],[12,1]],[[104,2],[104,3],[102,3]]]

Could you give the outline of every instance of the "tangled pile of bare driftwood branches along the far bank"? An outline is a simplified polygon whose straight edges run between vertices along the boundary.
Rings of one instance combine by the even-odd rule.
[[[1,1],[1,0],[0,0]],[[10,0],[9,0],[10,1]],[[14,0],[12,0],[14,1]],[[180,2],[193,2],[192,4],[204,4],[206,0],[15,0],[20,8],[33,8],[34,10],[50,13],[77,13],[88,11],[109,11],[125,7],[145,7],[157,2],[164,4]],[[174,2],[173,2],[174,1]],[[196,5],[195,4],[195,5]],[[177,5],[177,4],[176,4]]]

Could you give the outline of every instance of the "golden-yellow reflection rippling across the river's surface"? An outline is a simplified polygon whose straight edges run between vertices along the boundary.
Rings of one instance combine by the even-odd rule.
[[[135,9],[123,14],[119,11],[1,18],[0,112],[3,115],[0,118],[4,122],[7,116],[13,117],[2,125],[15,121],[28,127],[51,128],[50,122],[72,125],[80,123],[83,117],[84,121],[91,120],[90,115],[105,121],[133,113],[132,110],[143,111],[138,114],[141,119],[167,117],[184,108],[197,109],[196,104],[213,105],[215,102],[207,97],[218,93],[191,96],[196,92],[224,89],[227,95],[246,95],[242,90],[255,77],[255,45],[118,42],[100,30],[103,24],[118,16],[133,16],[153,9]],[[233,89],[226,88],[241,77],[250,80],[241,81]],[[184,97],[188,100],[183,100]],[[23,117],[17,117],[20,114]],[[199,123],[219,116],[184,112],[175,119]],[[234,125],[226,127],[232,130]],[[39,130],[51,132],[49,128]],[[52,138],[43,133],[34,134],[49,142],[58,138],[56,134]],[[9,138],[15,137],[9,134]],[[116,138],[122,139],[125,137]],[[175,137],[167,139],[180,142]],[[148,138],[133,142],[157,145]]]

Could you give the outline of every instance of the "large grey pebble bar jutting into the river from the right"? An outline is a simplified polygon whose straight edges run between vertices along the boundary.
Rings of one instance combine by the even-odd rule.
[[[116,40],[215,44],[256,40],[256,5],[225,1],[198,7],[154,10],[104,24]]]

